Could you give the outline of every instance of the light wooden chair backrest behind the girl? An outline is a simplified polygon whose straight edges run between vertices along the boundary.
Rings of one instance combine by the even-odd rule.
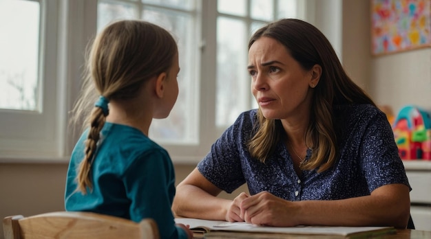
[[[140,223],[92,212],[48,212],[34,216],[7,216],[3,219],[5,239],[37,238],[140,238],[158,239],[153,219]]]

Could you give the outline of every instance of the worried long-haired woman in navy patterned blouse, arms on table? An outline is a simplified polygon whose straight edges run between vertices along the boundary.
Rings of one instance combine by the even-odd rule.
[[[392,129],[313,25],[282,19],[249,42],[242,113],[177,186],[177,216],[257,225],[405,228],[410,185]],[[233,201],[216,197],[247,183]]]

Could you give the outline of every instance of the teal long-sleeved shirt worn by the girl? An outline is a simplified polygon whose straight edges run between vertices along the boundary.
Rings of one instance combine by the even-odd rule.
[[[187,238],[171,211],[175,171],[167,151],[140,130],[105,123],[91,175],[93,190],[76,190],[88,130],[76,143],[67,170],[65,209],[109,214],[139,222],[154,218],[160,238]]]

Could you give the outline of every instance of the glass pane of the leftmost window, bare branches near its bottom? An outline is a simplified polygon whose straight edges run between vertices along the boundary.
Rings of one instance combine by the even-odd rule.
[[[39,110],[39,23],[39,2],[0,1],[0,109]]]

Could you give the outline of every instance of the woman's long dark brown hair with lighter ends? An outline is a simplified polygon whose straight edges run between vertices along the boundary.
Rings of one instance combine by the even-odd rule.
[[[305,142],[313,147],[311,158],[301,164],[302,170],[318,172],[328,170],[337,160],[337,128],[333,108],[341,104],[375,103],[353,82],[341,66],[328,39],[316,27],[298,19],[282,19],[257,30],[249,41],[249,48],[262,36],[282,43],[303,69],[314,65],[322,67],[319,84],[313,89],[310,109],[310,124],[306,130]],[[257,127],[249,141],[252,157],[264,162],[269,159],[277,143],[286,139],[280,120],[269,120],[257,111]]]

